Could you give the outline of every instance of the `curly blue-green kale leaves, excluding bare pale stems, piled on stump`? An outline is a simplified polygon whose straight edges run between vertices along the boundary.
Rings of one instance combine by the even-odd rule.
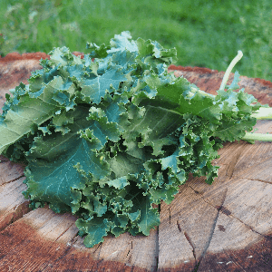
[[[27,164],[31,207],[72,212],[92,248],[112,233],[149,235],[160,224],[152,203],[174,199],[189,173],[211,184],[223,141],[244,139],[260,108],[238,88],[213,96],[168,73],[176,49],[131,40],[87,44],[81,59],[54,48],[29,84],[6,94],[0,153]]]

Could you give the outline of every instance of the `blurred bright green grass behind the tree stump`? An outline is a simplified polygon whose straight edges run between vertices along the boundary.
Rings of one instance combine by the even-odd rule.
[[[272,81],[271,0],[0,0],[0,53],[88,53],[86,42],[109,44],[131,32],[176,47],[176,65],[235,70]]]

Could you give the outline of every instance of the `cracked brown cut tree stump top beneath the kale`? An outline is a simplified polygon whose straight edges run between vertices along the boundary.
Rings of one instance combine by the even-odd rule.
[[[42,68],[41,57],[49,56],[0,58],[0,108],[9,89]],[[224,75],[174,65],[169,71],[213,94]],[[245,92],[272,106],[272,83],[240,78]],[[255,128],[272,133],[272,121]],[[107,236],[93,248],[77,235],[76,216],[28,208],[24,165],[0,156],[0,271],[272,271],[272,143],[226,142],[219,155],[219,178],[208,185],[190,175],[170,205],[161,201],[160,226],[150,236]]]

